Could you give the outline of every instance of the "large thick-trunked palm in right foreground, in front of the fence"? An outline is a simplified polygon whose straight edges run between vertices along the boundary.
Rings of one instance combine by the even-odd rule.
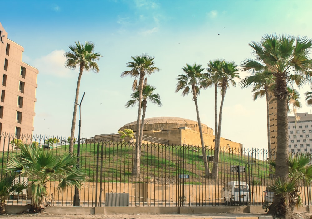
[[[265,35],[259,43],[252,41],[255,59],[246,59],[242,63],[244,71],[253,70],[272,75],[275,81],[273,93],[277,101],[277,151],[275,177],[282,182],[288,179],[288,91],[287,84],[291,81],[302,85],[310,79],[312,60],[309,51],[312,40],[308,37],[293,37],[290,35]],[[280,197],[278,195],[277,197]],[[277,213],[277,200],[274,198],[270,214]],[[285,208],[288,208],[285,206]],[[282,215],[285,216],[285,215]]]

